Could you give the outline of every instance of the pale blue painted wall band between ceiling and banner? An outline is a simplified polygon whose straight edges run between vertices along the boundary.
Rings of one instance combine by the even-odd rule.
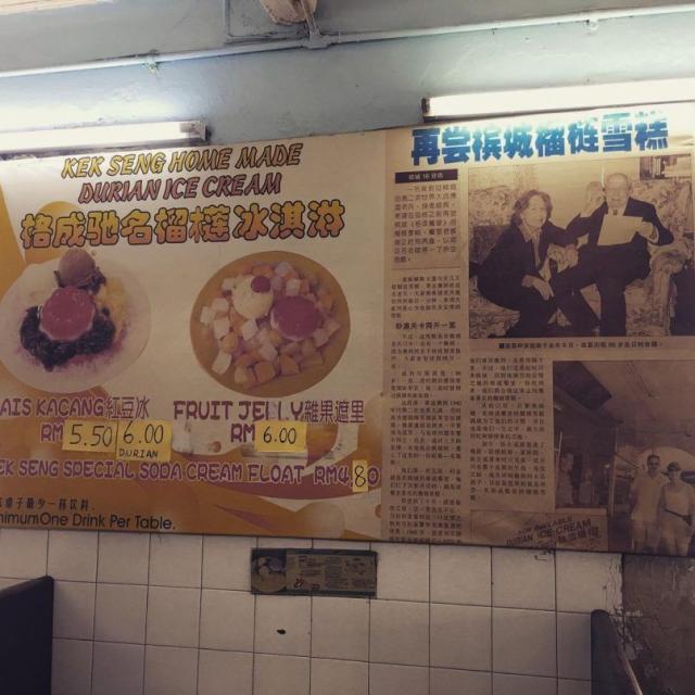
[[[688,13],[0,78],[0,129],[204,118],[235,142],[407,125],[427,94],[686,76],[693,36]]]

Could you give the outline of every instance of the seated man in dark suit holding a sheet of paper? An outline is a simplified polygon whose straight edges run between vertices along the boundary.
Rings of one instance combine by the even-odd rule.
[[[602,336],[626,334],[626,288],[649,275],[649,244],[664,245],[673,235],[661,224],[650,203],[631,197],[632,186],[624,174],[606,178],[605,195],[601,186],[590,184],[583,210],[567,226],[571,237],[587,242],[579,250],[579,263],[554,278],[555,292],[581,290],[596,285],[601,295]],[[634,233],[624,243],[599,244],[602,228],[610,216],[628,217]]]

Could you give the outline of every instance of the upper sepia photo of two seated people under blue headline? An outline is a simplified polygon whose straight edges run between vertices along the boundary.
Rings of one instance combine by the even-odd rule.
[[[470,338],[695,334],[691,164],[471,170]]]

